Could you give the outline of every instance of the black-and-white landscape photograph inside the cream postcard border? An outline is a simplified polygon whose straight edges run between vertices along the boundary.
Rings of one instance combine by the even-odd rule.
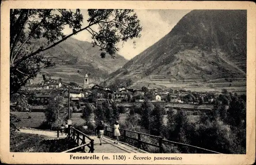
[[[247,154],[247,16],[11,8],[10,152]]]

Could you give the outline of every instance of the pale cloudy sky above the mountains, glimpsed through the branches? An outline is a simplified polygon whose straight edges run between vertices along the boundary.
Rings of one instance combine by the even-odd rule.
[[[119,43],[117,45],[117,47],[120,48],[118,54],[124,56],[127,60],[132,59],[168,34],[178,21],[189,11],[190,10],[135,10],[142,26],[141,38],[128,40],[123,46]],[[81,12],[83,14],[84,27],[87,26],[87,9],[82,9]],[[97,26],[94,26],[92,29],[97,30],[97,28]],[[66,26],[63,32],[64,34],[71,34],[72,29]],[[83,30],[72,37],[81,41],[92,41],[90,33],[87,32],[87,30]],[[133,41],[136,41],[135,46],[133,45]]]

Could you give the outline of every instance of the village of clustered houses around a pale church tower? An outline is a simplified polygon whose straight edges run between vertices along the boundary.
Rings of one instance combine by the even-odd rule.
[[[22,90],[34,94],[33,106],[30,112],[43,112],[45,105],[51,97],[56,95],[64,97],[65,105],[68,105],[68,95],[73,112],[80,112],[86,102],[95,104],[98,101],[115,101],[117,105],[123,106],[126,110],[134,104],[141,104],[147,99],[150,102],[158,102],[166,110],[170,107],[174,109],[183,109],[189,115],[198,115],[197,112],[211,112],[216,92],[191,92],[185,90],[162,90],[160,88],[146,87],[131,88],[120,86],[118,90],[113,91],[108,87],[99,86],[90,82],[90,77],[84,76],[83,86],[75,83],[66,83],[60,80],[47,79],[42,82],[29,82]],[[11,109],[15,109],[15,102],[11,103]]]

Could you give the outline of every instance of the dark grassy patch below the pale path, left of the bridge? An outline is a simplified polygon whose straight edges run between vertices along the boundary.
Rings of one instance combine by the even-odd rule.
[[[10,139],[10,152],[62,152],[76,147],[75,142],[67,139],[50,140],[43,135],[14,132]]]

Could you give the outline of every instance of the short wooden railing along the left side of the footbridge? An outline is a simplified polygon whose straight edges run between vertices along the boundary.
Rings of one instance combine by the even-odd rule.
[[[64,130],[66,128],[63,129],[58,129],[57,130],[57,137],[59,137],[59,131],[60,130]],[[91,139],[89,136],[85,135],[83,132],[75,129],[74,127],[69,127],[68,128],[68,135],[67,135],[68,140],[72,140],[74,142],[76,142],[79,146],[63,151],[63,152],[69,152],[72,150],[76,150],[81,148],[83,152],[86,152],[85,147],[87,146],[90,150],[89,153],[93,153],[94,152],[94,139]],[[89,141],[89,142],[86,142]]]

